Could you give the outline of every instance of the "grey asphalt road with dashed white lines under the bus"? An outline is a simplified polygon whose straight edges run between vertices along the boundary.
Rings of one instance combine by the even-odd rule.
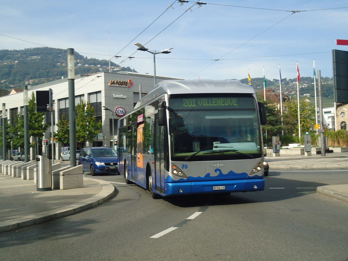
[[[0,260],[347,260],[346,170],[276,170],[266,189],[153,200],[121,176],[88,211],[0,235]]]

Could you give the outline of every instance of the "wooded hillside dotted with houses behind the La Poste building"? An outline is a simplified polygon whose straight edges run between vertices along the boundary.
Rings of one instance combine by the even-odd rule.
[[[48,47],[26,48],[24,50],[0,50],[0,89],[23,88],[24,85],[38,85],[66,78],[67,52]],[[90,74],[109,71],[108,60],[87,58],[74,53],[75,74]],[[111,62],[113,72],[136,72]]]

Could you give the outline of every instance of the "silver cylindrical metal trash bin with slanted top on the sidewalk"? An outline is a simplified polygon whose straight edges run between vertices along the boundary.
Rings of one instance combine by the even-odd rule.
[[[52,171],[51,161],[40,155],[36,156],[36,190],[50,191],[52,190]]]

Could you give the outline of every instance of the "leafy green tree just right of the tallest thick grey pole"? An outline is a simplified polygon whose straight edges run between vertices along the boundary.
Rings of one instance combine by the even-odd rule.
[[[76,105],[76,141],[92,142],[99,133],[102,121],[96,122],[94,118],[94,108],[89,102],[81,101]]]

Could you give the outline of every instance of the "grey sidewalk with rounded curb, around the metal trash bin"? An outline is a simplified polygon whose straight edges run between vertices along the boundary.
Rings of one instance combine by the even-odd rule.
[[[0,173],[0,232],[84,211],[113,194],[113,185],[103,180],[84,177],[83,188],[37,191],[33,180]]]

